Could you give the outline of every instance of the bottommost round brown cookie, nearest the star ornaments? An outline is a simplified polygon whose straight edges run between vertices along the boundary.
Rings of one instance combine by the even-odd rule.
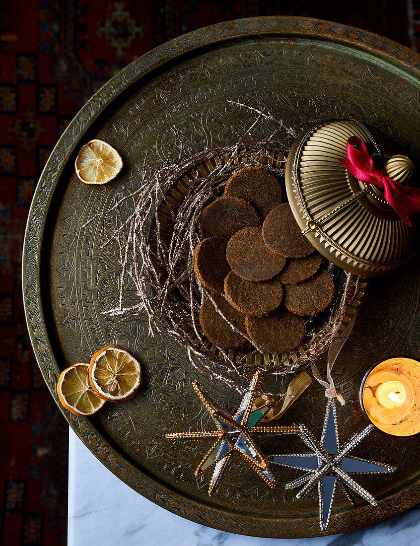
[[[258,351],[281,354],[291,351],[303,340],[306,323],[303,317],[279,307],[265,317],[247,316],[246,331]]]

